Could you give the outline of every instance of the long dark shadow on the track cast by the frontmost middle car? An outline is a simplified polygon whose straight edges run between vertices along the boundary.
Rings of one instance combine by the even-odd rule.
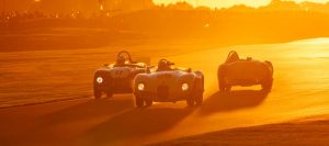
[[[131,109],[86,133],[90,145],[136,145],[129,139],[147,138],[168,131],[194,111],[192,108],[157,106]]]

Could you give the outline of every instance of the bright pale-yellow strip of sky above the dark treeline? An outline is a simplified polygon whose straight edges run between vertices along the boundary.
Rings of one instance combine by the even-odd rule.
[[[207,5],[211,8],[227,8],[231,7],[234,4],[239,4],[243,3],[250,7],[260,7],[260,5],[265,5],[269,4],[271,0],[154,0],[156,4],[159,3],[174,3],[178,1],[188,1],[192,3],[193,5]],[[329,0],[294,0],[296,2],[303,2],[303,1],[311,1],[311,2],[320,2],[325,3],[328,2]]]

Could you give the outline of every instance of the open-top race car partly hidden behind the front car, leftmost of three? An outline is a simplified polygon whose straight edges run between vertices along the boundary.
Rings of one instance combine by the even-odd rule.
[[[115,63],[106,64],[94,72],[94,98],[100,99],[102,93],[106,93],[107,98],[114,93],[132,93],[135,76],[146,70],[145,63],[133,61],[128,52],[120,52]]]

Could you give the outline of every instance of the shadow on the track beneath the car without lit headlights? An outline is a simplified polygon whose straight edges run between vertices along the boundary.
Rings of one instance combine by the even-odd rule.
[[[203,115],[207,115],[216,112],[257,106],[262,103],[268,94],[269,92],[262,90],[218,91],[203,102],[200,112]]]

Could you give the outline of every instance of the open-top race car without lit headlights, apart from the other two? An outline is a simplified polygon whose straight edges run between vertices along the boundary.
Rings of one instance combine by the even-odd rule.
[[[273,83],[273,66],[271,61],[259,61],[251,57],[240,59],[237,52],[231,50],[226,61],[218,67],[218,86],[220,91],[229,91],[232,86],[261,85],[264,91],[271,91]]]

